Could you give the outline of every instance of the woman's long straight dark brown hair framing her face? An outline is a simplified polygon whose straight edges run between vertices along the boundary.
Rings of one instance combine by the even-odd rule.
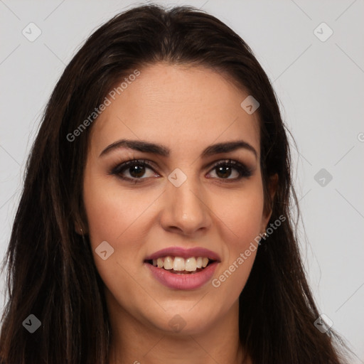
[[[240,295],[240,341],[255,364],[339,364],[332,330],[321,333],[294,233],[287,131],[267,75],[245,41],[217,18],[191,6],[138,6],[101,26],[65,68],[50,97],[26,166],[23,193],[6,260],[6,303],[0,360],[4,364],[107,364],[110,325],[103,283],[87,227],[82,181],[87,135],[67,137],[116,82],[157,62],[203,65],[258,100],[261,167],[269,223],[286,220],[257,250]],[[97,122],[97,121],[96,121]],[[269,200],[267,181],[279,184]],[[5,264],[4,264],[5,266]],[[4,267],[3,267],[4,269]],[[29,333],[30,315],[41,327]],[[338,343],[340,344],[341,341]],[[341,346],[343,348],[343,346]]]

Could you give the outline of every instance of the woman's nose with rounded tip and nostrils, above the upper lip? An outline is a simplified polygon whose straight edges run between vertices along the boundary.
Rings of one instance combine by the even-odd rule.
[[[196,237],[211,225],[208,197],[195,178],[188,177],[179,187],[168,181],[163,194],[161,225],[164,230]]]

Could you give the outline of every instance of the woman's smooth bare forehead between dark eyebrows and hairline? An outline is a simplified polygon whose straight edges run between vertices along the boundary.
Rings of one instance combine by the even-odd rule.
[[[91,146],[100,151],[117,139],[146,139],[173,151],[191,145],[244,139],[259,154],[257,112],[240,106],[248,96],[228,78],[201,66],[157,63],[139,69],[92,126]],[[123,80],[117,84],[119,85]],[[122,91],[120,91],[122,90]]]

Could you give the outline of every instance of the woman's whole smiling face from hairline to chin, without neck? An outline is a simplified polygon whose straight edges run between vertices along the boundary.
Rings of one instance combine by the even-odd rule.
[[[158,63],[119,93],[92,126],[83,194],[107,304],[149,327],[198,333],[237,309],[269,219],[257,112],[200,67]]]

